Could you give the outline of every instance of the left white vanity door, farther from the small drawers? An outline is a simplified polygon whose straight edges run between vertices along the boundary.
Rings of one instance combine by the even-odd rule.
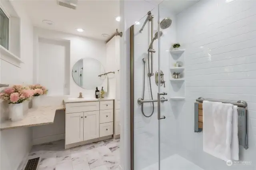
[[[84,139],[84,113],[66,114],[66,144],[81,142]]]

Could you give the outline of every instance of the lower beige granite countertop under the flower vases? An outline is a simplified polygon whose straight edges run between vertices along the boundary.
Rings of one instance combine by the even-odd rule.
[[[31,108],[26,111],[24,119],[21,121],[3,121],[0,124],[0,130],[52,124],[56,111],[64,109],[64,105]]]

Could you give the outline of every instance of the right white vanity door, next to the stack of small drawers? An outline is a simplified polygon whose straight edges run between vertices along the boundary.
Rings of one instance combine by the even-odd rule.
[[[84,112],[84,140],[100,137],[100,111]]]

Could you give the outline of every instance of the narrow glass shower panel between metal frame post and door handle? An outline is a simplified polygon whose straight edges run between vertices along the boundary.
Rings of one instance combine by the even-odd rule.
[[[150,16],[154,16],[153,21],[149,21]],[[134,158],[132,159],[134,163],[131,168],[133,170],[159,170],[158,86],[155,75],[149,74],[155,74],[158,70],[158,39],[152,42],[158,30],[157,21],[158,8],[154,8],[134,24],[131,35],[134,39]],[[148,52],[153,49],[155,52]],[[155,101],[139,104],[138,99]]]

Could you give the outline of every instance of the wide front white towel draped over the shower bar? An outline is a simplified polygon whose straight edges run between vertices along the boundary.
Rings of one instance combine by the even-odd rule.
[[[203,102],[203,150],[222,160],[231,160],[233,105]]]

